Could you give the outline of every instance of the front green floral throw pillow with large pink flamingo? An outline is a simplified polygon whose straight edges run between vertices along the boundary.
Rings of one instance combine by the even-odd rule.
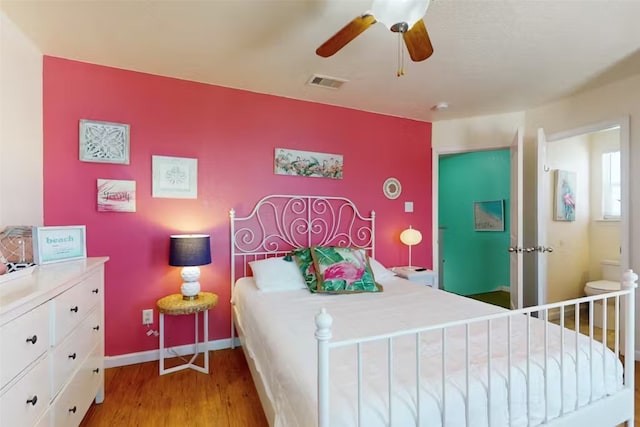
[[[364,249],[313,247],[311,255],[318,276],[318,292],[381,292]]]

